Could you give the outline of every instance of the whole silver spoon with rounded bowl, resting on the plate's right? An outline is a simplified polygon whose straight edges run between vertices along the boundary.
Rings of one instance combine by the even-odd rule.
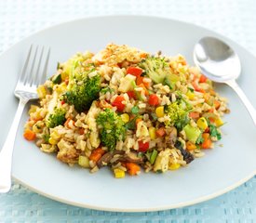
[[[194,61],[210,80],[230,85],[236,91],[256,125],[256,111],[236,83],[241,73],[241,63],[236,52],[220,39],[204,37],[195,45]]]

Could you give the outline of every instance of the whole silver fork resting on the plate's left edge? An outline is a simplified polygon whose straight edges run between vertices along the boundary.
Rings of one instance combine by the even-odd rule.
[[[48,48],[45,50],[45,48],[42,47],[41,50],[38,50],[38,48],[38,46],[36,46],[35,49],[34,46],[30,47],[27,59],[14,90],[14,95],[20,99],[20,102],[9,129],[6,142],[2,151],[0,151],[0,192],[2,193],[7,192],[11,188],[12,153],[21,114],[29,100],[38,98],[36,88],[46,80],[47,76],[47,63],[50,49]],[[41,74],[39,74],[39,72]]]

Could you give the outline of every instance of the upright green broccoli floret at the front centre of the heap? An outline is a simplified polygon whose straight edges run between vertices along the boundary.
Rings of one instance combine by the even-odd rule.
[[[100,128],[102,144],[110,151],[115,150],[116,142],[123,139],[126,132],[126,128],[121,117],[111,109],[106,109],[99,114],[96,122]]]

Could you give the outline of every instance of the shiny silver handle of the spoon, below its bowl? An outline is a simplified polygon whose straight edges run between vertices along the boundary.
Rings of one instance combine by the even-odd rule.
[[[242,100],[244,105],[247,108],[247,111],[249,112],[250,117],[252,118],[254,125],[256,125],[256,110],[252,106],[252,104],[249,102],[249,98],[245,95],[243,90],[240,88],[239,85],[237,85],[235,80],[227,81],[227,85],[230,85],[235,91],[236,94],[239,96],[239,98]]]

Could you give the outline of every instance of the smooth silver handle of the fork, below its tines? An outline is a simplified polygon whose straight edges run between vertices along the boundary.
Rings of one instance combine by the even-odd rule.
[[[19,106],[12,125],[9,129],[6,142],[0,151],[0,193],[5,193],[11,188],[11,163],[16,133],[20,124],[20,117],[25,108],[27,99],[20,98]]]

